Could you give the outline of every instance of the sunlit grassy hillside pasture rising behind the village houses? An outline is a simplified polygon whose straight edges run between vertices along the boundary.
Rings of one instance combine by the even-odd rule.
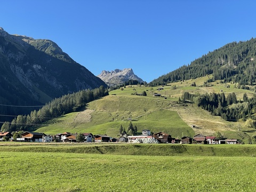
[[[234,84],[209,83],[204,87],[204,82],[211,75],[184,81],[171,83],[166,86],[144,87],[130,85],[122,90],[109,92],[109,96],[88,103],[86,108],[76,113],[66,114],[60,118],[47,122],[37,132],[57,134],[62,132],[91,132],[93,134],[107,134],[118,137],[119,127],[127,129],[132,119],[133,125],[138,127],[138,134],[143,129],[153,132],[166,132],[172,137],[180,138],[181,135],[193,137],[195,134],[213,135],[220,131],[229,139],[240,139],[249,142],[249,138],[255,134],[254,129],[245,126],[245,122],[227,122],[219,116],[212,116],[208,111],[198,108],[193,103],[182,105],[177,103],[183,92],[190,93],[220,93],[235,92],[238,100],[246,93],[252,97],[254,92],[234,88]],[[193,82],[196,87],[190,86]],[[177,89],[173,89],[173,86]],[[226,86],[229,85],[229,88]],[[158,91],[162,87],[163,90]],[[135,92],[146,91],[147,96],[132,95]],[[160,93],[163,97],[153,97],[154,93]],[[166,98],[166,99],[165,99]],[[191,128],[193,125],[196,128]]]

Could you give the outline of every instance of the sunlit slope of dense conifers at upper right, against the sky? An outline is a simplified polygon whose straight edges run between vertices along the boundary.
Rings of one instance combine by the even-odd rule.
[[[213,81],[222,79],[225,82],[253,85],[256,80],[256,38],[245,42],[229,43],[220,49],[209,52],[201,58],[182,66],[154,81],[151,85],[195,79],[213,74]]]

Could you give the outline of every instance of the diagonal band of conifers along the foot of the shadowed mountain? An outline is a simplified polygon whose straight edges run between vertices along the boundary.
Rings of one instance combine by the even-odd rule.
[[[63,95],[47,103],[39,110],[31,111],[28,115],[18,115],[11,122],[4,122],[2,131],[34,130],[40,124],[51,118],[81,110],[86,103],[108,95],[108,90],[102,85],[93,90],[82,90]]]

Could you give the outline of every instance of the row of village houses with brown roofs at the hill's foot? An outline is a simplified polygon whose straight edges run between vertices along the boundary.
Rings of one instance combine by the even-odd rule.
[[[21,133],[19,138],[13,139],[10,132],[0,132],[0,141],[9,138],[9,141],[23,142],[77,142],[77,133],[70,132],[46,135],[44,133],[28,132]],[[217,139],[212,136],[197,134],[193,138],[182,137],[181,139],[172,138],[170,134],[157,132],[151,134],[149,130],[143,130],[142,135],[127,135],[124,131],[119,138],[109,137],[108,135],[93,135],[92,133],[82,133],[83,140],[79,142],[129,142],[129,143],[181,143],[181,144],[237,144],[237,139]]]

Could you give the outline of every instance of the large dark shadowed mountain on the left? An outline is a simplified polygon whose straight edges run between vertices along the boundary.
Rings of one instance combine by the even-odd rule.
[[[0,27],[0,104],[42,105],[63,94],[101,85],[107,87],[56,43],[10,35]],[[24,114],[25,109],[3,106],[0,112]]]

